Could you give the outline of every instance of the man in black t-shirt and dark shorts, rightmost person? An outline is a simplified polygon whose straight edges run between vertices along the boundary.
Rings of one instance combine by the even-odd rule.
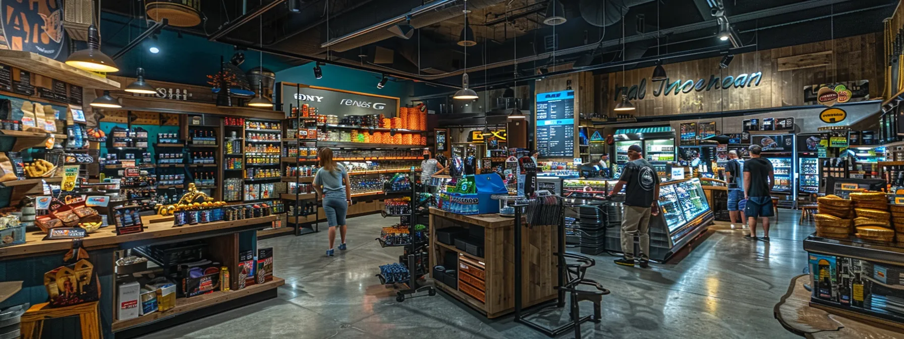
[[[763,221],[763,240],[769,240],[769,217],[775,215],[772,206],[772,197],[769,191],[775,180],[775,171],[772,163],[760,156],[763,148],[759,145],[751,145],[749,148],[750,159],[744,162],[744,199],[747,206],[744,215],[747,216],[750,225],[748,239],[757,239],[757,218]]]

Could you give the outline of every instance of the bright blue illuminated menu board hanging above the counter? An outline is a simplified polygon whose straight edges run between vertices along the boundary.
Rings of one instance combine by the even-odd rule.
[[[537,150],[541,156],[574,156],[574,91],[537,94]]]

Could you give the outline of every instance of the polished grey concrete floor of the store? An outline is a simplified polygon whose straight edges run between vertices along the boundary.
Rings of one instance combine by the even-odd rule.
[[[802,273],[801,240],[812,223],[780,210],[771,242],[744,239],[725,225],[691,246],[682,259],[650,269],[626,268],[615,257],[597,258],[589,270],[612,291],[603,300],[603,321],[585,324],[586,338],[797,338],[773,317],[772,307],[791,278]],[[775,220],[774,220],[775,221]],[[260,240],[273,247],[276,276],[286,279],[278,297],[209,316],[143,338],[546,338],[514,324],[494,321],[439,293],[397,303],[374,277],[378,266],[398,260],[400,248],[381,249],[380,228],[398,219],[370,215],[349,220],[349,250],[324,256],[326,231]],[[760,230],[759,235],[762,235]],[[582,307],[589,312],[590,306]],[[548,318],[568,316],[553,309]],[[573,333],[562,337],[572,337]]]

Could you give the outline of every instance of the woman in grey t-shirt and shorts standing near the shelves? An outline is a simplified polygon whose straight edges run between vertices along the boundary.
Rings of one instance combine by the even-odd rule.
[[[327,147],[317,152],[320,158],[320,168],[314,176],[314,190],[317,195],[323,197],[326,222],[330,226],[330,249],[326,250],[328,257],[333,257],[333,243],[336,240],[336,227],[339,227],[339,235],[342,243],[339,250],[345,250],[345,214],[348,206],[352,205],[352,193],[347,189],[349,183],[348,172],[345,166],[333,161],[333,150]]]

